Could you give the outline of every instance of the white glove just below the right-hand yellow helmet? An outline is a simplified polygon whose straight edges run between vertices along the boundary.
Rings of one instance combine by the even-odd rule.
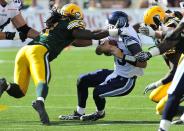
[[[141,26],[139,27],[139,32],[146,36],[155,37],[155,31],[150,26]]]

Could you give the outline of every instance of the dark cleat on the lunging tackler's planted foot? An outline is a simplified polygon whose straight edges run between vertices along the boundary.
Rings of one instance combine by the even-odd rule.
[[[33,101],[32,107],[38,112],[40,116],[40,121],[42,122],[42,124],[50,125],[49,116],[45,110],[45,105],[43,101],[40,101],[40,100]]]

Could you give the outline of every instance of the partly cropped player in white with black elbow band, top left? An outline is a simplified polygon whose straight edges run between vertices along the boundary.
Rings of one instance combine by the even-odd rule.
[[[39,35],[39,32],[26,24],[26,21],[19,11],[21,6],[21,0],[0,0],[0,40],[14,39],[15,32],[2,32],[10,21],[18,30],[19,37],[22,41],[25,41],[26,38],[36,38]]]

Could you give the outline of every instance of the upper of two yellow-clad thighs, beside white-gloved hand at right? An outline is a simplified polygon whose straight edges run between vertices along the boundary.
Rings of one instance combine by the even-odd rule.
[[[167,90],[169,89],[170,85],[171,85],[171,82],[165,85],[161,85],[158,88],[154,89],[151,92],[149,98],[154,102],[159,102],[163,97],[167,95]]]

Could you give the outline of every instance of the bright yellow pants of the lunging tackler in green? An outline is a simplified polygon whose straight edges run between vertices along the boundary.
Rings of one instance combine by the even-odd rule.
[[[50,78],[50,65],[48,62],[48,49],[43,45],[26,45],[16,55],[14,82],[26,94],[30,76],[35,86],[39,82],[47,83]]]

